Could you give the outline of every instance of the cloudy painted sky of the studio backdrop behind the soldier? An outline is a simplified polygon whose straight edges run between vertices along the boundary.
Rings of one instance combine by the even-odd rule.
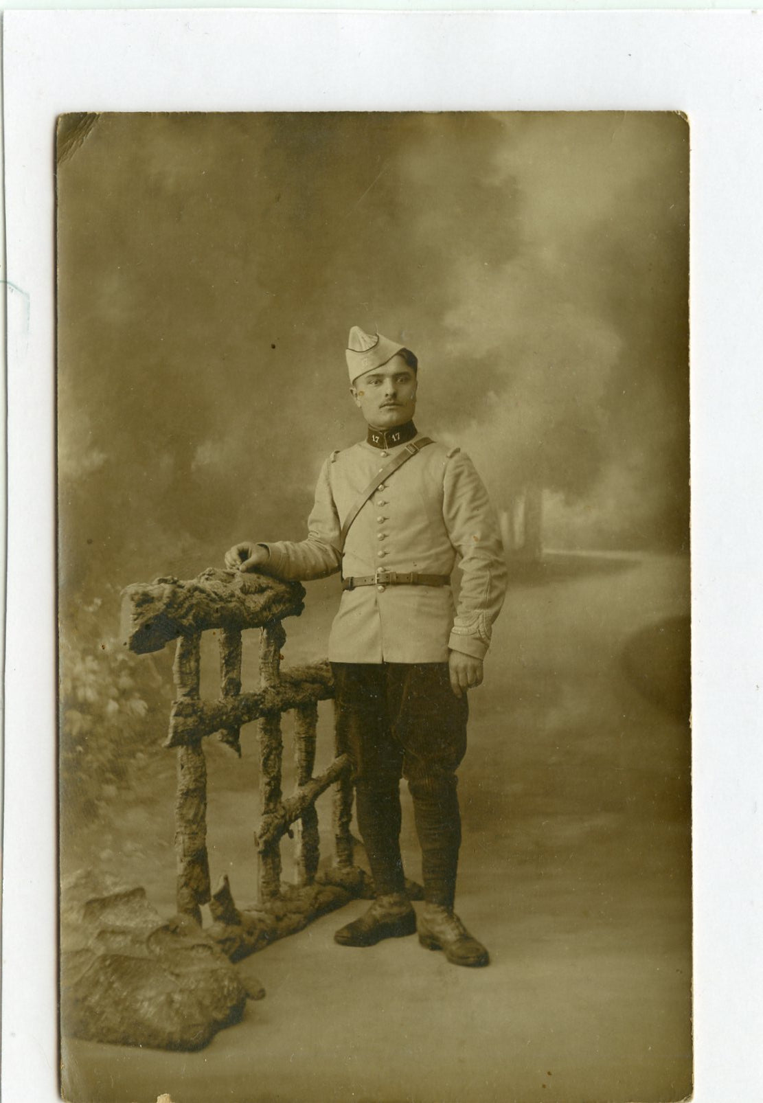
[[[546,539],[688,526],[677,115],[103,115],[58,169],[69,595],[300,538],[362,436],[351,325],[419,356],[417,422]]]

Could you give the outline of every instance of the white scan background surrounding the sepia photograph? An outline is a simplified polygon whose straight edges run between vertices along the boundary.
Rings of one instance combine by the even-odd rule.
[[[759,685],[763,22],[753,12],[4,15],[7,1103],[57,1099],[55,117],[680,109],[691,125],[697,1103],[763,1097]],[[390,81],[388,65],[405,81]],[[30,583],[33,585],[30,585]],[[624,994],[626,998],[626,994]]]

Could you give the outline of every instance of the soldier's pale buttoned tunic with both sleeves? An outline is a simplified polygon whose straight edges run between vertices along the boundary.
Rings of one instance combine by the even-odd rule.
[[[420,440],[417,433],[413,440]],[[461,570],[458,609],[450,586],[363,586],[342,593],[329,640],[335,663],[439,663],[449,649],[483,658],[506,589],[495,513],[472,461],[432,443],[411,457],[363,506],[341,552],[342,521],[386,453],[362,441],[323,464],[308,538],[264,545],[266,570],[284,579],[373,575],[377,568],[451,575]]]

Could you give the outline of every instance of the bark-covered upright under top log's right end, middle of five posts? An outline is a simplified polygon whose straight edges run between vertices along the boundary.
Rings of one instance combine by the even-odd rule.
[[[281,668],[281,647],[286,643],[286,632],[280,621],[273,621],[260,630],[259,670],[262,689],[278,685]],[[259,795],[264,820],[277,816],[281,807],[281,714],[269,713],[259,721]],[[259,902],[267,903],[280,896],[281,848],[280,838],[273,839],[258,850]]]

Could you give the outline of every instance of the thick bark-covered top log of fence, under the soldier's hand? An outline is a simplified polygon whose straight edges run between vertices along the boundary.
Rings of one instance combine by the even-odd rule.
[[[299,617],[304,588],[259,574],[209,567],[197,578],[158,578],[122,591],[121,636],[139,655],[161,651],[170,640],[206,629],[261,628]]]

